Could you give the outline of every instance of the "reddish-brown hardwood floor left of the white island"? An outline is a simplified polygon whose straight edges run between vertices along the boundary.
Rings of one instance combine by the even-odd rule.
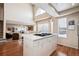
[[[22,44],[18,40],[0,42],[0,56],[22,56]]]

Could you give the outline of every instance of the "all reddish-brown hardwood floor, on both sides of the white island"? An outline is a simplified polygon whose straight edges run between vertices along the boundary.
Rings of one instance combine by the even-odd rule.
[[[23,44],[18,40],[0,42],[0,56],[23,56]],[[58,45],[50,56],[79,56],[79,50]]]

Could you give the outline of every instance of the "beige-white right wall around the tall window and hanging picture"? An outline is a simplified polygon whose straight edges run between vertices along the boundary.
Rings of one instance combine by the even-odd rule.
[[[77,22],[79,20],[79,12],[71,14],[71,15],[63,16],[63,17],[67,18],[67,22],[70,20],[74,20],[75,29],[67,30],[67,38],[58,37],[58,44],[78,49]],[[57,26],[58,19],[55,19],[55,21],[56,21],[55,22],[56,24],[54,24],[54,26],[56,28],[54,28],[54,32],[57,32],[58,30],[56,30],[56,29],[58,29],[58,26]]]

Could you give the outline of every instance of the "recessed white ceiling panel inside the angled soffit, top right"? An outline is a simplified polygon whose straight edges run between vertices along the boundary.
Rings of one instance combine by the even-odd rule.
[[[62,12],[71,8],[79,6],[79,3],[51,3],[51,5],[58,11]]]

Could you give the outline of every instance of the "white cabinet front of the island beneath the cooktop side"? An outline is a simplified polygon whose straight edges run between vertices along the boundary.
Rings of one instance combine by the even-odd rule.
[[[47,56],[50,55],[57,45],[56,36],[47,37],[33,41],[33,55]]]

